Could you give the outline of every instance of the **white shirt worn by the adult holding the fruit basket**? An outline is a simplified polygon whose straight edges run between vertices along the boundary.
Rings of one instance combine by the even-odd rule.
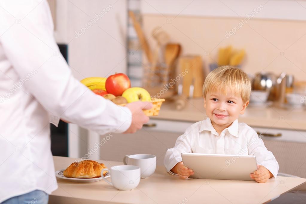
[[[128,108],[72,76],[45,0],[0,2],[0,113],[0,203],[57,189],[50,122],[63,118],[100,135],[124,132],[131,124]]]

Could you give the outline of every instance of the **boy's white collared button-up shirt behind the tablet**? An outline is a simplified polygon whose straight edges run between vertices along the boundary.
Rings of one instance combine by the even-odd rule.
[[[164,165],[170,174],[174,174],[170,170],[182,161],[181,153],[234,154],[237,158],[241,155],[254,155],[257,164],[266,167],[275,178],[278,173],[278,162],[272,152],[267,150],[263,140],[253,128],[238,123],[238,120],[220,135],[209,118],[192,124],[177,138],[175,146],[166,152]]]

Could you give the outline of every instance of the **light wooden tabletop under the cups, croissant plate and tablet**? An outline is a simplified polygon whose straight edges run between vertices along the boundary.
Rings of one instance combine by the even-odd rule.
[[[74,158],[53,157],[55,170],[65,169]],[[78,159],[76,159],[78,160]],[[101,161],[108,168],[122,165],[117,161]],[[108,178],[110,179],[110,178]],[[263,203],[303,184],[306,179],[279,176],[264,184],[255,181],[188,179],[168,174],[163,166],[140,180],[132,191],[118,191],[105,181],[76,183],[58,179],[58,189],[49,203]]]

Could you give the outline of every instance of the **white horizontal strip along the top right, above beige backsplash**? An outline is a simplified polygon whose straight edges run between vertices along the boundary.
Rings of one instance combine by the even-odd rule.
[[[302,0],[140,0],[144,14],[205,17],[246,17],[263,6],[254,18],[306,20]]]

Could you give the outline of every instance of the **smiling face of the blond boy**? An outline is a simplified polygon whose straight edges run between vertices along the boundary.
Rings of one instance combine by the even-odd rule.
[[[207,116],[218,125],[231,124],[239,114],[243,114],[249,102],[243,102],[241,96],[228,92],[226,95],[209,92],[204,96],[204,108]]]

